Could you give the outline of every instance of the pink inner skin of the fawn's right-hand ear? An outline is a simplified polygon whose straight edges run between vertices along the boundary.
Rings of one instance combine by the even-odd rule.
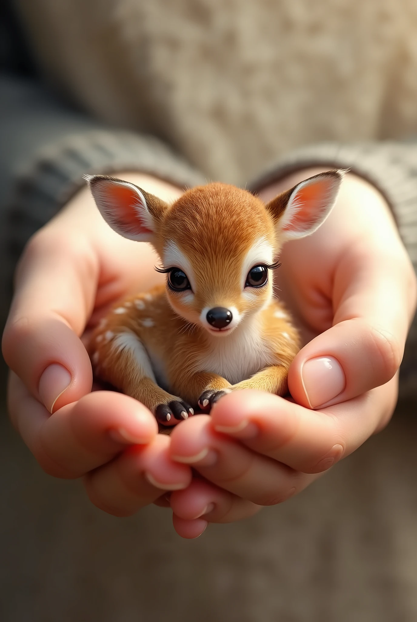
[[[294,213],[282,231],[305,231],[314,226],[328,208],[329,190],[328,179],[317,180],[300,188],[292,200]]]

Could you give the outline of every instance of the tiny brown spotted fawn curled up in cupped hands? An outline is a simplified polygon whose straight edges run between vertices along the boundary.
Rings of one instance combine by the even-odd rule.
[[[343,171],[315,175],[264,205],[224,183],[192,188],[173,205],[133,183],[89,178],[103,218],[128,239],[150,242],[166,286],[123,300],[92,335],[97,378],[175,425],[237,389],[287,391],[297,330],[273,298],[282,244],[323,223]]]

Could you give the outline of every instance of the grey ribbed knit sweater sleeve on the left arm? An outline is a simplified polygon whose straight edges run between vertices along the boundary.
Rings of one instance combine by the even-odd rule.
[[[156,137],[105,126],[53,98],[29,78],[0,77],[0,283],[29,237],[84,185],[84,174],[148,173],[179,187],[205,183]]]

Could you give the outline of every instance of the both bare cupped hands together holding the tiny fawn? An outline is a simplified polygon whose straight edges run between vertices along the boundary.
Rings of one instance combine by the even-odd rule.
[[[300,170],[260,196],[320,170]],[[148,175],[117,176],[167,201],[181,195]],[[306,343],[289,371],[294,401],[232,392],[211,417],[158,435],[139,402],[91,392],[84,348],[109,305],[163,281],[153,270],[158,259],[110,230],[81,190],[27,245],[2,343],[11,420],[42,468],[83,476],[92,503],[117,516],[171,505],[176,531],[196,537],[208,522],[233,522],[297,494],[382,429],[416,304],[413,267],[387,203],[347,174],[330,217],[286,244],[280,261],[278,293]]]

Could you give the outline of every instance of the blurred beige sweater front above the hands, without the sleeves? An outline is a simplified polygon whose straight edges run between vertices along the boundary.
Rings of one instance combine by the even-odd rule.
[[[293,147],[417,131],[415,0],[19,0],[40,65],[94,116],[244,183]]]

